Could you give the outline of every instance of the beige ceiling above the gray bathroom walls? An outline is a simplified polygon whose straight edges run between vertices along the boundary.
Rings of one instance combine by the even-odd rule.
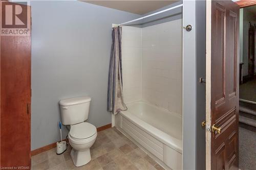
[[[146,14],[178,1],[82,1],[135,14]]]

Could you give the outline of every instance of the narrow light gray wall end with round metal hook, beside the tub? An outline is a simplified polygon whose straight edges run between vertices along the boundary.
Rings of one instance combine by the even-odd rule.
[[[183,169],[196,169],[196,2],[183,1]]]

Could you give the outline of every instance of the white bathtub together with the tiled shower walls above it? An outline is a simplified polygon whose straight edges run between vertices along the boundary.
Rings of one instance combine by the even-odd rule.
[[[166,169],[181,169],[182,19],[122,31],[128,109],[113,124]]]

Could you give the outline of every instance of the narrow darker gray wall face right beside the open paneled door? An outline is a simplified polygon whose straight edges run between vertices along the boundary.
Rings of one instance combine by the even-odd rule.
[[[205,169],[205,128],[201,123],[205,121],[205,83],[199,79],[205,78],[206,63],[206,3],[196,1],[196,74],[197,74],[197,108],[196,108],[196,169]]]

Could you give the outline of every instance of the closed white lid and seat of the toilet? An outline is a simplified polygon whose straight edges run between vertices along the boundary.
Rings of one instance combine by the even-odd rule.
[[[70,136],[76,139],[86,139],[93,136],[97,132],[97,129],[94,125],[83,122],[76,125],[71,125],[70,127]]]

